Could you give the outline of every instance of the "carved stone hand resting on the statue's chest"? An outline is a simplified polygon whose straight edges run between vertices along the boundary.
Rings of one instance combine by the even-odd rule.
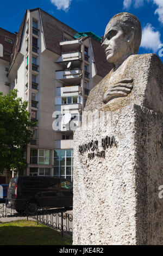
[[[106,90],[106,92],[103,95],[103,102],[107,103],[108,101],[116,97],[127,96],[133,89],[132,83],[133,83],[133,79],[126,78],[116,84],[113,84],[112,86],[109,86],[109,88]]]

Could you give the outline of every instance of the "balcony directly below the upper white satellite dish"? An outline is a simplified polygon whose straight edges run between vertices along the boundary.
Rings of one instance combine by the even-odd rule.
[[[75,85],[79,84],[82,78],[81,69],[58,70],[58,71],[55,71],[55,74],[56,74],[57,80],[61,80],[67,83],[73,83]]]

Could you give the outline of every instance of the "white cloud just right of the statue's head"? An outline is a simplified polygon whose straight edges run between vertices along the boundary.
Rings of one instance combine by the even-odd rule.
[[[161,44],[160,36],[160,32],[154,31],[152,25],[147,23],[146,27],[142,29],[142,40],[140,47],[157,52],[159,45]]]

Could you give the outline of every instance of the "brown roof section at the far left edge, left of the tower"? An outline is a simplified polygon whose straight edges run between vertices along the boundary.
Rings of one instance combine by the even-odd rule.
[[[16,35],[3,29],[3,28],[0,28],[0,44],[3,45],[3,52],[8,52],[8,53],[12,53],[12,47],[13,47],[13,44],[10,44],[9,42],[6,42],[5,41],[5,38],[8,37],[10,39],[13,40],[13,44],[15,42],[15,39],[16,39]],[[0,57],[1,59],[4,59],[4,60],[7,60],[7,62],[10,62],[10,55],[9,56],[3,56],[3,57]]]

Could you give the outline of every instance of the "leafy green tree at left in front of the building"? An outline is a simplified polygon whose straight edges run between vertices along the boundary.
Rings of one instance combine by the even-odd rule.
[[[17,90],[0,92],[0,173],[27,167],[26,149],[36,123],[29,120],[28,102],[17,98]],[[25,157],[24,157],[25,155]]]

